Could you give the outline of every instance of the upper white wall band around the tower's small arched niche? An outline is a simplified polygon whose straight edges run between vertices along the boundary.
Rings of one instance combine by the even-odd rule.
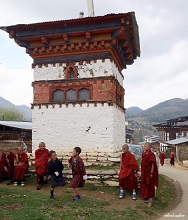
[[[75,66],[78,69],[78,78],[115,76],[120,85],[123,86],[123,77],[119,73],[114,61],[111,62],[109,59],[106,59],[105,62],[102,62],[102,60],[97,60],[96,63],[91,61],[89,64],[84,61],[82,65],[77,62]],[[65,69],[65,63],[63,63],[62,66],[59,66],[59,64],[56,64],[55,66],[49,64],[48,67],[43,65],[41,68],[36,66],[34,69],[34,81],[64,79]]]

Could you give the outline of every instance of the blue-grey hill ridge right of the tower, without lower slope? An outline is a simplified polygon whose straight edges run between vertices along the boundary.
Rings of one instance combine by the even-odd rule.
[[[127,108],[128,119],[132,117],[143,117],[149,122],[163,122],[166,119],[188,115],[188,99],[170,99],[146,110],[138,111],[136,114],[135,108],[138,107]]]

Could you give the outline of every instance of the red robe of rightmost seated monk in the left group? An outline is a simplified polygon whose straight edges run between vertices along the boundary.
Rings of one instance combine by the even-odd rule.
[[[21,166],[14,167],[14,180],[24,180],[25,171],[29,168],[28,157],[26,153],[15,155],[16,163],[23,163]]]

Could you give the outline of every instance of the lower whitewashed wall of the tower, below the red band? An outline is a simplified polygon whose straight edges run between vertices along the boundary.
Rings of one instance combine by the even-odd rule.
[[[35,106],[32,114],[33,152],[41,141],[58,154],[75,146],[87,152],[116,152],[125,142],[124,113],[115,106]]]

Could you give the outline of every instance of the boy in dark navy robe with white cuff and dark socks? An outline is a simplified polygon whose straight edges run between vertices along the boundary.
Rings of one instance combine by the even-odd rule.
[[[57,158],[54,150],[49,152],[50,161],[48,162],[48,174],[51,176],[50,199],[54,199],[54,188],[57,186],[65,186],[65,179],[63,177],[63,164]]]

